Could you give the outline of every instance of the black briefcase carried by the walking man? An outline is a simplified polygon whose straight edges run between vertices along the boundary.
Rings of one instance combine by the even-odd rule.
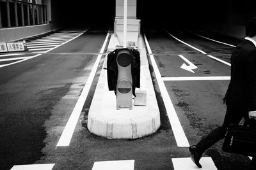
[[[256,129],[246,125],[229,125],[222,150],[239,155],[256,155]]]

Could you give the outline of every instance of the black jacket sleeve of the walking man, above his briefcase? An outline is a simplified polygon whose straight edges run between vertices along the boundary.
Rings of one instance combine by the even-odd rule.
[[[256,110],[256,50],[249,53],[246,59],[246,87],[248,88],[249,111]]]

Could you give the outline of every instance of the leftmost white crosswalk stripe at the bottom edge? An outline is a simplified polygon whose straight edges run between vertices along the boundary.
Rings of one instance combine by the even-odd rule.
[[[55,164],[30,164],[13,166],[11,170],[51,170]]]

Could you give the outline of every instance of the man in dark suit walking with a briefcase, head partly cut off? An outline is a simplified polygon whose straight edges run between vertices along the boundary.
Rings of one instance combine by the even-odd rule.
[[[227,104],[223,125],[189,147],[191,159],[200,168],[202,153],[225,138],[230,123],[239,124],[244,118],[248,120],[250,127],[256,128],[256,17],[246,23],[245,29],[246,38],[236,46],[231,55],[231,79],[223,99]],[[250,169],[256,169],[256,153]]]

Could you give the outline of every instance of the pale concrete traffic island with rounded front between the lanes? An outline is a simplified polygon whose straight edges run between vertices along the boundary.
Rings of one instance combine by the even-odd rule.
[[[108,49],[113,49],[112,35]],[[160,126],[159,108],[152,84],[143,39],[139,38],[141,89],[147,90],[147,105],[116,110],[116,96],[108,90],[107,70],[102,69],[88,113],[88,130],[108,139],[136,139],[153,134]],[[132,99],[133,100],[133,99]]]

